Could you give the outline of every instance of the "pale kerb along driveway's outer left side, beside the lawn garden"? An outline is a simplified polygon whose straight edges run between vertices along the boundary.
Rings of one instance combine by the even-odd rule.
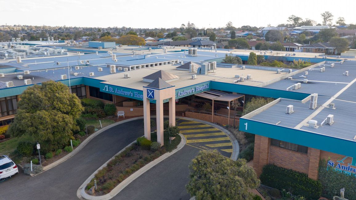
[[[43,167],[43,171],[41,173],[46,172],[47,170],[49,170],[49,169],[51,169],[53,167],[56,167],[57,165],[63,163],[64,161],[68,160],[69,158],[71,158],[72,156],[77,154],[80,150],[82,150],[85,147],[85,145],[87,145],[95,136],[99,135],[100,133],[102,133],[102,132],[104,132],[104,131],[108,130],[109,128],[112,128],[112,127],[114,127],[116,125],[120,125],[122,123],[133,121],[133,120],[138,120],[138,119],[143,119],[143,117],[134,117],[134,118],[123,120],[123,121],[120,121],[120,122],[116,122],[116,123],[110,124],[109,126],[105,126],[104,128],[101,128],[100,130],[98,130],[95,133],[91,134],[82,143],[80,143],[79,146],[77,148],[75,148],[72,152],[70,152],[69,154],[67,154],[63,158],[57,160],[56,162],[51,163],[51,164]],[[41,174],[41,173],[38,173],[38,174]],[[31,177],[34,177],[34,176],[36,176],[38,174],[31,174]]]

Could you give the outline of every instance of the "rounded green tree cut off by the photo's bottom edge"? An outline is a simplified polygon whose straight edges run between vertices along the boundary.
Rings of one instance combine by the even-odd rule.
[[[249,189],[260,185],[245,159],[234,161],[216,150],[200,151],[189,169],[190,180],[185,187],[197,200],[252,199]]]

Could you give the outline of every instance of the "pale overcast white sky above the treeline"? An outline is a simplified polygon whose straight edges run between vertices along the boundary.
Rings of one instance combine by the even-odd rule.
[[[356,23],[356,1],[335,0],[0,0],[0,25],[171,28],[194,23],[202,28],[277,26],[296,15],[321,23],[330,11]]]

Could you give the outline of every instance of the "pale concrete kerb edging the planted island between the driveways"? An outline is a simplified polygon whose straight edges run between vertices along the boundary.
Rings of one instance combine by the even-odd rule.
[[[185,137],[182,134],[179,134],[182,140],[178,144],[177,148],[174,149],[171,152],[167,152],[163,154],[162,156],[158,157],[157,159],[153,160],[152,162],[148,163],[147,165],[143,166],[141,169],[137,170],[135,173],[131,174],[129,177],[127,177],[124,181],[122,181],[119,185],[117,185],[114,189],[110,191],[109,194],[103,195],[103,196],[91,196],[87,193],[85,193],[85,186],[91,181],[91,179],[94,178],[95,174],[100,170],[103,169],[113,158],[115,158],[116,155],[120,154],[122,151],[124,151],[127,147],[131,146],[131,144],[135,143],[136,141],[133,141],[131,144],[129,144],[127,147],[119,151],[115,156],[110,158],[105,164],[103,164],[98,170],[96,170],[93,174],[90,175],[90,177],[84,181],[84,183],[80,186],[80,188],[77,190],[77,196],[79,199],[87,199],[87,200],[108,200],[116,196],[117,194],[120,193],[121,190],[123,190],[127,185],[129,185],[133,180],[136,178],[140,177],[143,173],[147,172],[149,169],[151,169],[153,166],[156,164],[160,163],[162,160],[168,158],[169,156],[172,156],[174,153],[179,151],[184,147],[184,145],[187,143],[185,140]]]

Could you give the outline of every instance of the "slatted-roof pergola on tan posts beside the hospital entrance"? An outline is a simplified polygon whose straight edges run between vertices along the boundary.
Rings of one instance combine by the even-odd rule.
[[[229,125],[229,123],[230,123],[230,102],[243,97],[244,98],[244,107],[245,107],[245,95],[243,95],[243,94],[228,94],[228,93],[224,93],[224,92],[217,91],[217,90],[208,90],[208,91],[204,91],[199,94],[195,94],[195,96],[200,96],[202,98],[210,99],[213,101],[213,108],[211,109],[211,122],[213,122],[213,118],[214,118],[214,101],[229,102],[229,116],[227,119],[227,125]]]

